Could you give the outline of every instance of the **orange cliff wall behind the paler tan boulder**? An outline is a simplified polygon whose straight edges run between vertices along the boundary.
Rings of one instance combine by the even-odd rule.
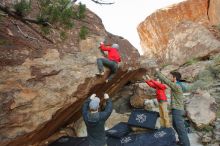
[[[137,28],[144,54],[162,57],[173,28],[185,20],[206,24],[207,8],[208,0],[187,0],[148,16]]]

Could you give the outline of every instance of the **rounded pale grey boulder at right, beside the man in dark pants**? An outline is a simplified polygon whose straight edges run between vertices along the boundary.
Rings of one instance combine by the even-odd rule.
[[[203,128],[216,119],[215,110],[215,99],[206,91],[198,91],[186,104],[187,115],[198,128]]]

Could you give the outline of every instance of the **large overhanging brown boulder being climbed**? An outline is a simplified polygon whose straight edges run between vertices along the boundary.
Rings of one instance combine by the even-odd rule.
[[[39,35],[10,17],[0,25],[0,145],[35,144],[62,126],[78,120],[81,106],[91,93],[110,96],[138,73],[139,54],[125,39],[106,32],[101,20],[90,11],[86,19],[66,30]],[[80,26],[89,28],[89,36],[79,39]],[[28,38],[19,32],[27,34]],[[118,43],[123,66],[112,82],[96,77],[96,59],[103,57],[99,42]],[[49,41],[52,40],[52,41]],[[56,42],[56,43],[52,43]],[[128,71],[129,69],[129,71]],[[116,84],[113,84],[116,83]]]

